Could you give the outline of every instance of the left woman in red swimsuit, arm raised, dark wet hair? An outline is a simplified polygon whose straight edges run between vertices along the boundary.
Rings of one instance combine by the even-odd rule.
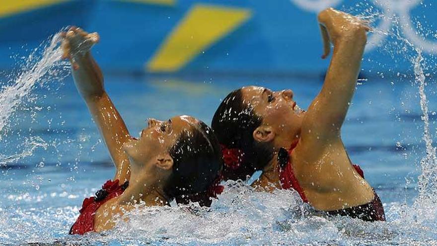
[[[146,206],[199,202],[211,205],[216,196],[221,152],[213,131],[190,116],[148,120],[139,139],[126,125],[103,87],[103,77],[91,56],[97,33],[72,27],[63,33],[64,58],[69,58],[77,90],[100,130],[116,167],[95,197],[83,201],[70,234],[100,232],[115,226],[117,216],[140,202]]]

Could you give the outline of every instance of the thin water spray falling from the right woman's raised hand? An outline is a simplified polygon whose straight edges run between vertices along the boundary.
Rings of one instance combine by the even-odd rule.
[[[422,4],[422,1],[420,2],[421,5],[426,6],[426,4]],[[376,6],[379,5],[389,7],[390,4],[395,3],[393,1],[375,1],[375,4]],[[375,42],[375,40],[379,40],[383,37],[385,37],[386,40],[392,38],[392,41],[385,41],[384,46],[380,45],[380,51],[383,51],[384,54],[391,56],[395,63],[398,60],[405,59],[411,62],[413,66],[415,84],[418,85],[419,89],[420,108],[422,110],[421,119],[424,124],[422,140],[424,141],[426,147],[425,156],[420,161],[419,166],[421,171],[420,175],[418,176],[419,194],[415,200],[414,208],[428,204],[428,211],[425,211],[424,207],[422,212],[429,213],[430,211],[435,211],[437,210],[437,207],[434,208],[435,206],[433,203],[435,204],[437,202],[437,155],[436,148],[433,147],[433,136],[430,130],[430,124],[435,122],[430,122],[430,112],[428,108],[429,101],[426,94],[428,75],[425,75],[424,73],[424,70],[427,70],[428,66],[426,64],[426,59],[422,54],[423,49],[428,48],[430,50],[430,47],[433,46],[429,41],[425,40],[430,38],[430,36],[433,36],[434,31],[432,29],[426,30],[425,26],[423,25],[423,23],[427,23],[425,16],[422,16],[424,18],[422,22],[417,17],[413,18],[414,21],[410,20],[410,16],[408,16],[408,21],[406,21],[406,16],[401,16],[395,13],[392,15],[385,15],[379,10],[375,10],[374,6],[366,1],[356,4],[355,7],[360,9],[363,6],[365,9],[362,10],[362,12],[358,15],[373,25],[379,20],[382,23],[379,27],[383,29],[381,30],[374,28],[371,31],[372,35],[368,40],[368,44],[370,43],[372,46],[374,46],[373,42]],[[350,11],[357,11],[357,9],[351,8]],[[415,22],[415,25],[413,22]],[[388,28],[387,26],[391,26],[391,28]],[[414,28],[416,28],[416,31],[412,31],[415,30]],[[425,47],[417,47],[414,44],[423,45]],[[369,48],[369,45],[367,45],[367,48]],[[435,65],[436,56],[430,55],[430,58],[431,59],[429,61]],[[378,66],[381,65],[384,66],[384,64],[378,64]],[[397,74],[397,77],[401,81],[403,81],[403,78],[408,78],[407,75],[402,75],[400,73]]]

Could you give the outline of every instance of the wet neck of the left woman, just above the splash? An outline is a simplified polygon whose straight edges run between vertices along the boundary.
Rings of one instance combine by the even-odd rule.
[[[128,188],[120,195],[120,206],[135,205],[144,202],[146,206],[163,206],[167,204],[164,192],[161,190],[159,180],[153,175],[136,175],[132,172]]]

